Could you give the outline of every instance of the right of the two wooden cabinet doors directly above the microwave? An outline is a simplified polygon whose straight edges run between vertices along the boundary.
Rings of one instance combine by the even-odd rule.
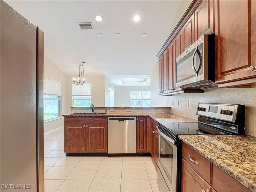
[[[212,34],[213,22],[213,0],[203,0],[195,11],[195,39],[203,34]]]

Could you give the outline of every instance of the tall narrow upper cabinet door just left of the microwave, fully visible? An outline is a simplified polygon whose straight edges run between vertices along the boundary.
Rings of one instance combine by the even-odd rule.
[[[173,41],[170,43],[170,45],[167,48],[168,53],[168,65],[167,65],[167,92],[173,92],[174,88],[174,43]]]

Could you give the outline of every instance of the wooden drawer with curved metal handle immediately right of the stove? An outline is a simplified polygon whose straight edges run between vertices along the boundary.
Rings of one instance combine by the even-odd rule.
[[[190,156],[190,158],[189,158]],[[182,157],[208,182],[211,183],[211,162],[182,142]],[[196,162],[193,162],[196,161]]]

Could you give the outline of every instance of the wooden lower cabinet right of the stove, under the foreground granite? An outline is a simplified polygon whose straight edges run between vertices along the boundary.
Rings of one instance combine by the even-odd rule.
[[[182,192],[251,192],[184,142],[181,174]]]

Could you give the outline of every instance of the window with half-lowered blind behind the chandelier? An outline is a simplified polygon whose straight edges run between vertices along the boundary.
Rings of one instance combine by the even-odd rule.
[[[92,104],[92,84],[72,84],[73,107],[90,106]]]

